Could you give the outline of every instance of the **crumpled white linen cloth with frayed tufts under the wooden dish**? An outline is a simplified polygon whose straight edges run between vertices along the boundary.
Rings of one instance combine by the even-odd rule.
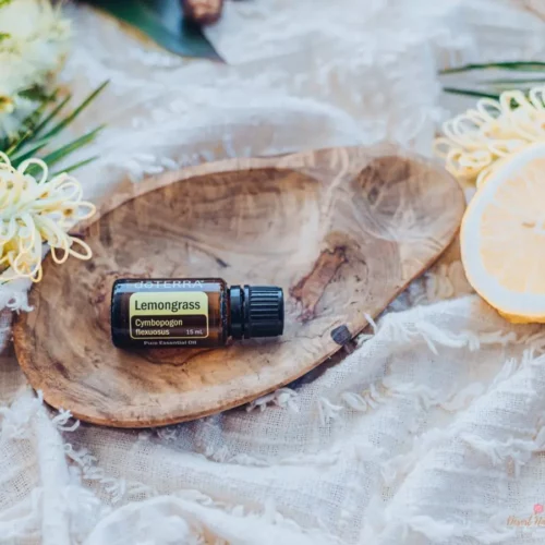
[[[227,65],[171,56],[86,8],[70,15],[62,78],[78,97],[110,80],[75,126],[108,123],[82,152],[100,155],[78,172],[92,199],[225,157],[384,140],[429,154],[438,121],[471,105],[441,97],[438,69],[545,48],[536,1],[227,2],[207,31]],[[0,291],[2,545],[545,541],[531,519],[545,504],[545,331],[472,294],[456,244],[340,363],[159,429],[46,408],[9,339],[26,289]]]

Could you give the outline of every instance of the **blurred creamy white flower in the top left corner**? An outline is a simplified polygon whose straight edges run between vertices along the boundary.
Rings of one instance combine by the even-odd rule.
[[[44,87],[59,70],[70,34],[50,0],[0,0],[0,138],[36,107],[24,92]]]

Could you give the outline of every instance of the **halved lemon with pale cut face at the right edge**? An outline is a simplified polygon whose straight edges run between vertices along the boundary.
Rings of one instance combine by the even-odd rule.
[[[460,231],[475,291],[511,322],[545,323],[545,143],[495,168]]]

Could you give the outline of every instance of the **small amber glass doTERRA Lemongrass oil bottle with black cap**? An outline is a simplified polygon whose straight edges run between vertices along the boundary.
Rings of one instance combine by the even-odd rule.
[[[281,288],[228,287],[220,278],[113,283],[111,339],[119,348],[213,348],[282,332]]]

